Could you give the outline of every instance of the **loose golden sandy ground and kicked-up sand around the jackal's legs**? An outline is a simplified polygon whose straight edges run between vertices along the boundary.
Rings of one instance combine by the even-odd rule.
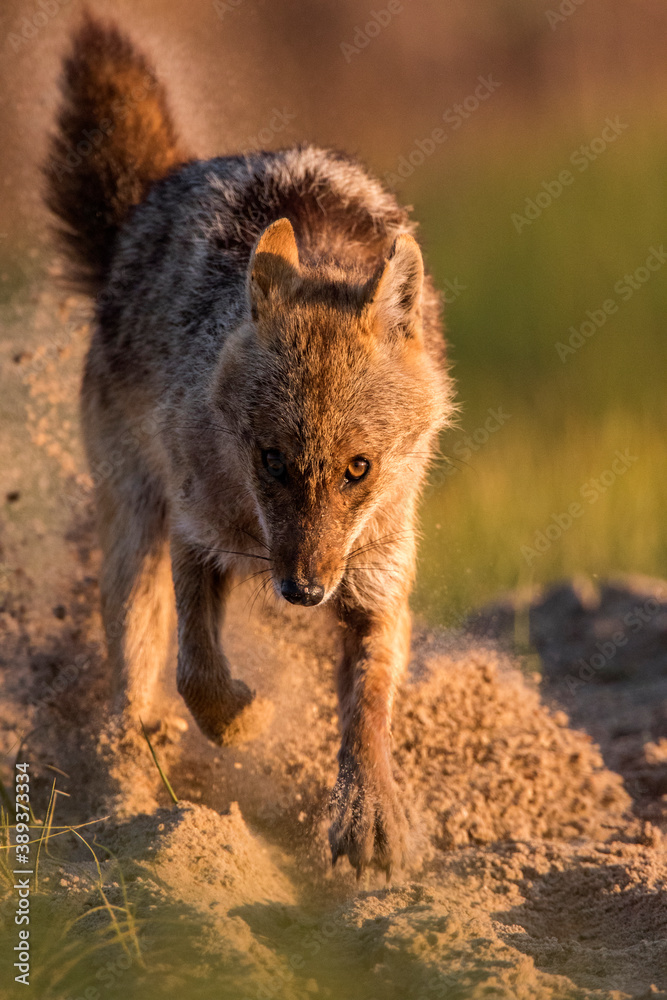
[[[44,353],[58,308],[62,342]],[[77,308],[41,294],[8,315],[0,345],[2,779],[29,761],[38,819],[54,781],[66,793],[32,896],[34,995],[667,997],[667,584],[574,581],[509,595],[467,630],[416,627],[394,725],[414,863],[389,886],[330,870],[335,636],[317,613],[253,606],[239,587],[226,648],[273,720],[243,748],[212,746],[172,665],[164,712],[187,729],[155,749],[174,805],[147,746],[128,764],[100,739],[109,677]],[[121,764],[143,812],[103,818]]]

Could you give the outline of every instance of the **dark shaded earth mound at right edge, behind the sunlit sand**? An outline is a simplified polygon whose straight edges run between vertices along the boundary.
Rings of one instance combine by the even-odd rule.
[[[667,820],[667,584],[575,580],[511,594],[471,623],[511,649],[517,614],[539,654],[542,695],[600,745],[637,815]]]

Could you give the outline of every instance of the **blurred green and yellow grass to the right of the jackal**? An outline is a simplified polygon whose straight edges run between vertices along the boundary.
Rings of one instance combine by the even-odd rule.
[[[667,146],[629,127],[579,173],[570,155],[596,134],[552,130],[478,160],[441,154],[400,192],[438,285],[464,287],[446,306],[462,416],[442,448],[465,461],[434,469],[422,507],[414,606],[431,620],[455,622],[526,583],[667,573],[667,264],[631,296],[614,287],[667,241]],[[512,213],[563,169],[573,183],[517,232]],[[563,362],[556,343],[607,299],[617,311]],[[484,442],[499,407],[510,417]],[[625,449],[636,461],[591,502],[591,480]],[[526,558],[522,546],[577,502],[572,525]]]

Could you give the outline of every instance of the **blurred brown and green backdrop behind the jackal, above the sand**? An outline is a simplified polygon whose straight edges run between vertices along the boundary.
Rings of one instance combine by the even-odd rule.
[[[197,155],[335,146],[414,206],[461,402],[424,498],[419,612],[455,623],[517,586],[665,575],[663,2],[89,6],[151,55]],[[33,351],[65,299],[38,165],[80,12],[4,0],[0,13],[0,319]],[[0,400],[15,442],[26,405],[41,419],[32,389]],[[75,426],[74,382],[65,395]],[[39,475],[11,450],[6,495],[27,485],[38,517],[57,447]]]

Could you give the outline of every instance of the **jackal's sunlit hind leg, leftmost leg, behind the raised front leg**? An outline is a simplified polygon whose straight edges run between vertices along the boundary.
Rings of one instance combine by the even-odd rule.
[[[176,736],[187,728],[158,698],[175,623],[168,512],[160,483],[138,456],[126,455],[117,476],[98,484],[96,503],[112,682],[111,714],[99,739],[104,808],[131,815],[155,808],[160,786],[142,724],[153,739],[156,729]]]

